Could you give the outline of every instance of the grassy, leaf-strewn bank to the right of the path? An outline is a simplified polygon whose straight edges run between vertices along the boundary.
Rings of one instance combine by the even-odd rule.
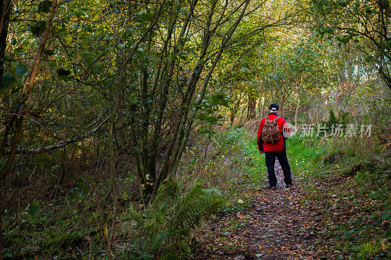
[[[378,148],[363,152],[373,141],[358,138],[287,141],[292,173],[322,216],[325,259],[391,258],[390,160]]]

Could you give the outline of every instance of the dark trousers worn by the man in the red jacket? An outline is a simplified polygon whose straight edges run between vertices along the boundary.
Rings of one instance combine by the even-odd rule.
[[[286,157],[286,151],[265,152],[267,175],[269,177],[270,186],[277,186],[276,173],[274,172],[274,163],[276,162],[276,157],[280,162],[282,172],[284,173],[285,184],[292,184],[292,178],[290,174],[288,158]]]

